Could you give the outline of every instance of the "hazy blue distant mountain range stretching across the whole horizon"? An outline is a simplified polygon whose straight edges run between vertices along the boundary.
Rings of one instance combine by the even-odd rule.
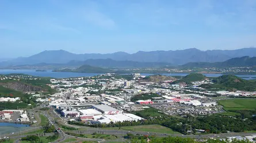
[[[74,54],[64,50],[48,50],[30,57],[19,57],[0,62],[1,67],[13,65],[33,65],[38,63],[82,62],[87,59],[113,59],[115,61],[133,61],[148,63],[170,63],[182,65],[189,62],[223,62],[236,57],[256,57],[256,48],[243,48],[238,50],[207,50],[196,48],[169,51],[138,51],[134,54],[116,52],[111,54]],[[98,66],[98,65],[97,65]]]

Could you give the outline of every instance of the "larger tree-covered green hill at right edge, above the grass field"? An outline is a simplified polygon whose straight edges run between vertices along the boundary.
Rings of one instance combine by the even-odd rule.
[[[217,78],[213,78],[215,84],[204,84],[201,85],[201,88],[205,89],[219,89],[219,90],[229,90],[229,91],[249,91],[253,92],[256,90],[256,82],[243,80],[242,78],[232,76],[232,75],[223,75]]]

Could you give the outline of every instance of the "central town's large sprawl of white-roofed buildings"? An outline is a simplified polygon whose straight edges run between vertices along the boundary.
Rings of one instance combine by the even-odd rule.
[[[215,108],[216,102],[209,102],[200,91],[190,90],[182,85],[172,86],[169,81],[144,84],[139,81],[140,78],[143,76],[133,74],[135,80],[128,81],[124,78],[115,78],[113,74],[104,74],[91,78],[52,79],[52,88],[57,89],[59,93],[51,95],[47,100],[49,106],[60,109],[64,117],[102,123],[120,121],[117,116],[122,117],[122,121],[139,120],[139,117],[129,117],[125,112],[144,110],[145,106],[154,107],[167,114],[185,114],[188,112],[187,109],[192,108],[200,108],[200,110],[194,109],[195,114],[204,114],[204,112],[208,114],[208,111],[209,113],[219,112]],[[194,82],[194,85],[205,82],[210,81]],[[165,86],[168,88],[163,88]],[[176,89],[171,90],[171,88]],[[197,88],[197,86],[192,88]],[[100,94],[101,91],[105,93]],[[131,98],[138,94],[151,93],[158,94],[158,96],[131,102]],[[177,108],[169,108],[172,105]],[[165,106],[167,107],[163,108]]]

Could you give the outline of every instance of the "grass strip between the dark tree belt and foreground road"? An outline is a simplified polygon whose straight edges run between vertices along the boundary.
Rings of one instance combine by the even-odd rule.
[[[104,128],[109,130],[118,130],[119,127],[114,128]],[[166,134],[181,134],[179,132],[174,132],[172,129],[161,125],[141,125],[141,126],[122,126],[121,130],[130,130],[137,132],[151,132],[151,133],[166,133]]]

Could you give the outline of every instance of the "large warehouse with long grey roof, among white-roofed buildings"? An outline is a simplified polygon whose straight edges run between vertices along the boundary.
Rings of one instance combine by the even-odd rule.
[[[114,109],[108,105],[93,105],[93,109],[100,111],[102,114],[121,114],[121,110]]]

